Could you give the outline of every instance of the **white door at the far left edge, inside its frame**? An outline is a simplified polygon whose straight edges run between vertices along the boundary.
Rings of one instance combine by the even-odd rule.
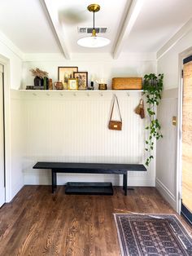
[[[3,66],[0,64],[0,207],[5,203],[5,139],[3,91]]]

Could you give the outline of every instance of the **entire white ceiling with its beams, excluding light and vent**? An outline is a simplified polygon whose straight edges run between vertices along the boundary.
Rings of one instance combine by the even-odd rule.
[[[103,48],[89,49],[76,41],[92,27],[91,0],[1,1],[0,31],[24,53],[157,52],[192,17],[192,0],[97,0],[95,26],[111,39]]]

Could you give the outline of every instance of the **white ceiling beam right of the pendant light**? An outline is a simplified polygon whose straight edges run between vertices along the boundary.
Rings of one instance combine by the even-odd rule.
[[[124,39],[129,36],[133,29],[133,24],[137,20],[137,16],[142,9],[144,0],[132,0],[130,7],[128,8],[127,14],[125,15],[124,21],[120,33],[117,35],[116,46],[113,51],[113,58],[117,59],[120,55],[120,51],[124,45]]]

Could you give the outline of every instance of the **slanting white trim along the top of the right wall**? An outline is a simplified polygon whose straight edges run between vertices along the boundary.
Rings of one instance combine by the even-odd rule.
[[[185,25],[183,25],[181,27],[181,29],[179,29],[177,31],[177,33],[174,34],[174,36],[172,36],[172,38],[170,38],[168,40],[168,42],[166,42],[164,44],[164,46],[162,46],[159,51],[157,51],[157,60],[159,60],[161,57],[163,57],[169,50],[172,49],[173,46],[175,46],[177,44],[177,42],[179,42],[181,40],[181,38],[183,38],[185,36],[185,34],[187,34],[188,32],[190,32],[190,30],[192,30],[192,18],[190,20],[188,20]]]

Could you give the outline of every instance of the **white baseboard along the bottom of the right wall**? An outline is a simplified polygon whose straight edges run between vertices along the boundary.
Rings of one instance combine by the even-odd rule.
[[[164,199],[166,201],[168,201],[168,203],[170,205],[172,205],[172,208],[174,210],[177,210],[177,201],[176,201],[176,197],[172,194],[172,192],[170,192],[168,190],[168,188],[166,186],[164,186],[164,183],[162,183],[159,179],[156,178],[155,180],[155,187],[157,188],[157,190],[159,191],[159,193],[164,197]]]

